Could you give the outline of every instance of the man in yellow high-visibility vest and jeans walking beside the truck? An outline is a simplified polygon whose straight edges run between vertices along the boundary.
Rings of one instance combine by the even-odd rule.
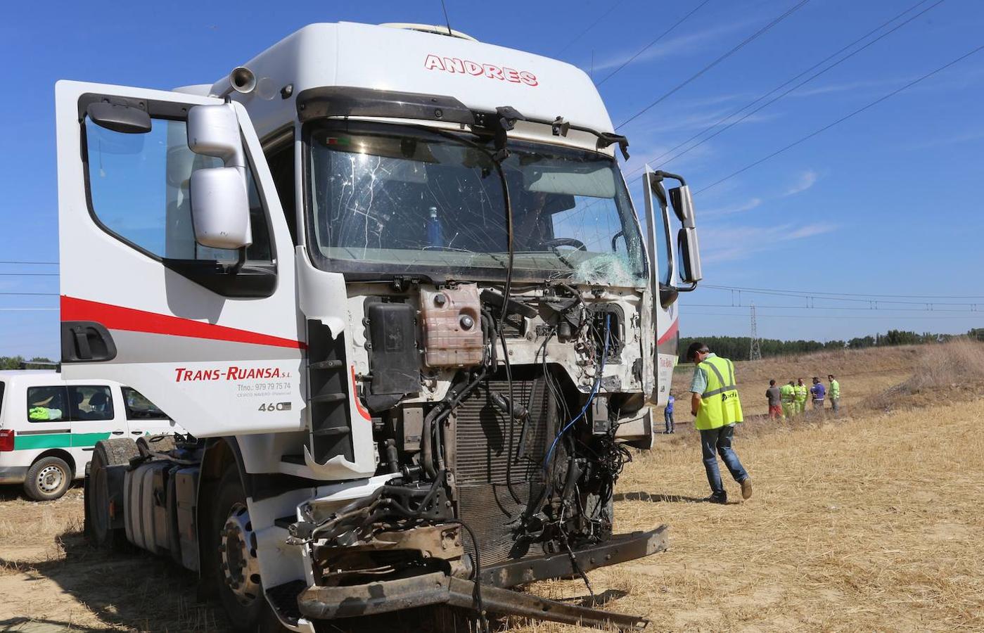
[[[690,384],[690,412],[697,418],[694,426],[701,431],[704,468],[707,483],[710,484],[707,501],[727,503],[728,500],[717,468],[717,455],[721,456],[721,461],[735,481],[741,484],[742,498],[748,499],[752,496],[752,478],[731,448],[735,424],[745,419],[738,399],[738,388],[735,387],[734,363],[712,353],[707,345],[699,341],[687,349],[687,358],[695,365],[694,379]]]

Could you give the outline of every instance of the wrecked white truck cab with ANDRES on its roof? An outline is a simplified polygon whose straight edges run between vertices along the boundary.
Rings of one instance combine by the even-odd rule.
[[[443,603],[645,625],[509,590],[666,546],[614,534],[613,490],[668,394],[694,212],[646,167],[644,233],[584,73],[342,23],[57,105],[63,371],[190,433],[97,445],[93,541],[169,553],[243,630]]]

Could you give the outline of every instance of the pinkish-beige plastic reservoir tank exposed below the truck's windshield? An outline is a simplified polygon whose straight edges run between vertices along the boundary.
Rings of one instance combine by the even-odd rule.
[[[424,362],[429,367],[473,367],[482,361],[478,286],[420,290]]]

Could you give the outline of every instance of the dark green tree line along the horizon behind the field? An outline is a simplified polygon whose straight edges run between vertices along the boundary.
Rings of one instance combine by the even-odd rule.
[[[784,356],[798,353],[809,353],[821,349],[843,348],[887,348],[892,346],[921,345],[925,343],[944,343],[960,336],[966,336],[978,341],[984,341],[984,328],[974,328],[966,335],[933,334],[932,332],[907,332],[904,330],[889,330],[885,334],[856,337],[849,341],[779,341],[777,339],[761,339],[762,357]],[[695,337],[680,338],[680,362],[688,362],[685,357],[687,348],[694,341],[703,341],[712,351],[728,358],[744,360],[748,358],[752,340],[749,337]]]

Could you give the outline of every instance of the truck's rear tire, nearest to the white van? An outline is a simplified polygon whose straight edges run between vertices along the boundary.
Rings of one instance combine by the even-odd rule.
[[[119,438],[96,442],[92,451],[92,461],[89,463],[85,481],[84,504],[86,510],[85,533],[86,539],[96,547],[118,547],[126,542],[125,529],[113,527],[113,517],[109,514],[109,504],[115,497],[117,504],[115,512],[123,513],[123,486],[120,481],[119,489],[110,489],[107,468],[113,466],[129,466],[130,460],[139,457],[140,451],[133,440]]]

